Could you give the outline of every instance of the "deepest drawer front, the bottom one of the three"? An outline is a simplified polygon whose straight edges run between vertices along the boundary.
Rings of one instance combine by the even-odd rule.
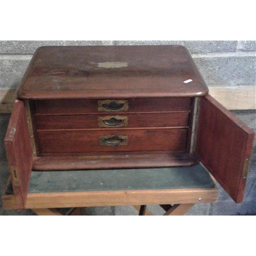
[[[44,153],[182,151],[187,129],[137,131],[38,132]]]

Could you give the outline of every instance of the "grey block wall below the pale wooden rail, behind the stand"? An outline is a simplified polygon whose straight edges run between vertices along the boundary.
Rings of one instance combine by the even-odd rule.
[[[249,127],[256,131],[256,111],[232,111],[234,115],[245,122]],[[0,114],[0,197],[2,199],[3,191],[9,170],[7,166],[6,153],[4,148],[4,136],[10,115]],[[218,185],[218,184],[217,184]],[[245,197],[241,204],[236,204],[227,195],[227,193],[219,187],[219,200],[215,204],[197,204],[193,206],[186,215],[256,215],[256,143],[254,141],[253,154],[251,157],[250,169],[247,177]],[[154,215],[163,215],[164,210],[158,205],[150,205],[148,209]],[[62,209],[67,212],[68,209]],[[138,211],[133,206],[117,206],[117,207],[88,207],[82,209],[83,215],[138,215]],[[16,211],[5,210],[0,200],[0,215],[35,215],[32,210]]]

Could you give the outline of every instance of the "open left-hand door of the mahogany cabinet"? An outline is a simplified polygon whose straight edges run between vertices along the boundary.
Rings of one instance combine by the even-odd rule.
[[[16,100],[5,136],[5,148],[11,172],[17,209],[26,205],[32,170],[32,146],[23,101]]]

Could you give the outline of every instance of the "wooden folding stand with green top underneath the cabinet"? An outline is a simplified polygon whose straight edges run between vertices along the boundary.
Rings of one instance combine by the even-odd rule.
[[[48,208],[159,204],[164,215],[184,215],[196,203],[214,203],[218,189],[203,165],[153,169],[32,172],[26,209],[38,215],[61,215]],[[16,209],[10,180],[5,209]],[[170,207],[172,205],[172,207]],[[73,214],[77,214],[78,209]]]

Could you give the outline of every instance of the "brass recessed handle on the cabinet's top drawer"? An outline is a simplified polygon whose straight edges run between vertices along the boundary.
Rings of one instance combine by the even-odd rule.
[[[128,100],[98,100],[98,111],[115,112],[127,111],[129,108]]]

